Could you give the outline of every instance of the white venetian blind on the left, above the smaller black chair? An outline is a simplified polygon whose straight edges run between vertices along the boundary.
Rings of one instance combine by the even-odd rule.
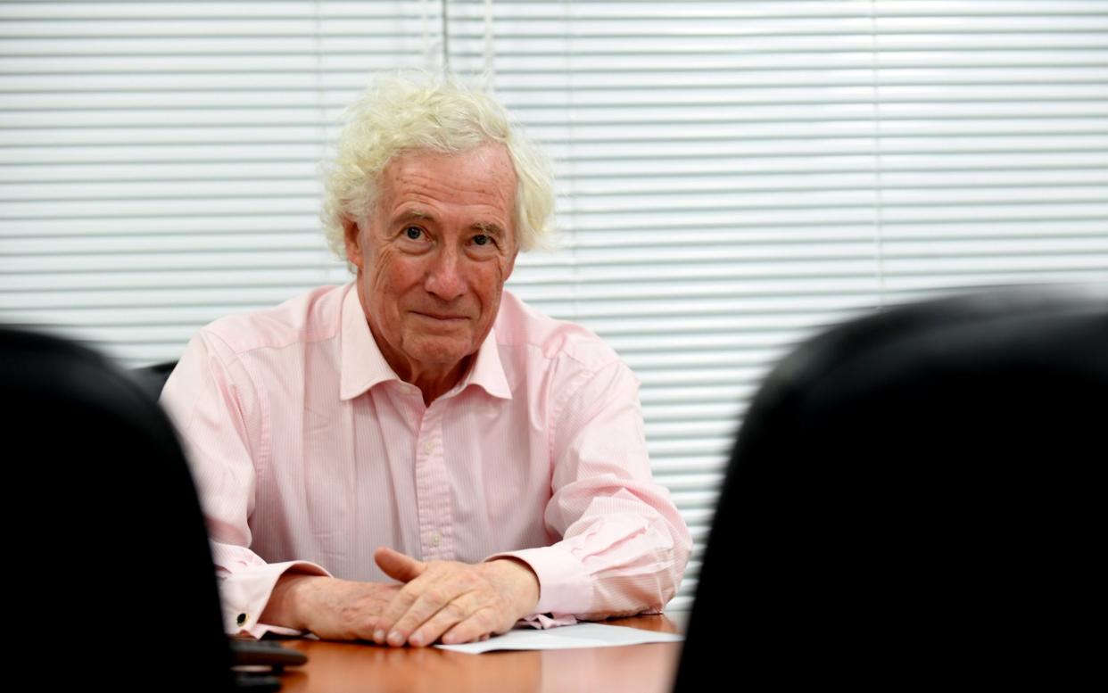
[[[319,163],[376,70],[441,62],[438,2],[0,3],[0,319],[130,364],[345,281]]]

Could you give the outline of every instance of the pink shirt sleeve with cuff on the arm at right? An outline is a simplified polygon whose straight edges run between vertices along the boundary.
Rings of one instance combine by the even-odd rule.
[[[652,478],[635,375],[616,362],[582,380],[552,414],[545,523],[562,540],[488,559],[513,557],[535,571],[538,604],[527,620],[540,627],[659,612],[693,545]]]

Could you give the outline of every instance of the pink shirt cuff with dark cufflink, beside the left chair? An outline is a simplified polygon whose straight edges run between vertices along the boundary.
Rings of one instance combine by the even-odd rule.
[[[259,623],[261,612],[269,603],[269,596],[277,580],[288,571],[330,577],[324,568],[302,560],[281,563],[245,566],[233,573],[219,576],[219,597],[223,600],[223,627],[229,635],[261,638],[273,632],[279,635],[301,635],[302,631],[284,625]]]

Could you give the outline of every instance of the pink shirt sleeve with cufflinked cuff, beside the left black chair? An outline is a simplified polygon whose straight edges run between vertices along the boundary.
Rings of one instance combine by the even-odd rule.
[[[264,464],[265,412],[243,363],[218,337],[202,331],[165,383],[161,404],[177,427],[212,541],[224,629],[260,638],[300,631],[258,622],[286,571],[329,575],[308,561],[267,563],[252,551],[257,465]]]

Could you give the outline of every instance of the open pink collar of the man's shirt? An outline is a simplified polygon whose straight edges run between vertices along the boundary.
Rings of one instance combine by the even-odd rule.
[[[384,360],[381,350],[369,330],[366,311],[358,300],[358,288],[355,282],[347,285],[346,297],[342,299],[340,324],[339,397],[342,401],[352,400],[375,385],[394,380],[400,381],[389,362]],[[448,395],[462,392],[470,385],[479,385],[494,397],[512,399],[512,389],[504,375],[504,365],[500,361],[500,349],[496,346],[496,332],[490,330],[476,359],[462,382],[453,387]]]

